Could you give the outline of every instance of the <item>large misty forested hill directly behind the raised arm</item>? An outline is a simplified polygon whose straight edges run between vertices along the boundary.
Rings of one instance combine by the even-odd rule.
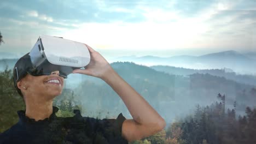
[[[227,108],[232,107],[234,101],[237,101],[237,111],[242,112],[246,106],[255,105],[254,86],[225,77],[210,74],[171,75],[130,62],[115,62],[112,67],[168,121],[189,113],[196,104],[209,105],[217,101],[218,93],[226,95]],[[85,80],[79,83],[74,93],[85,106],[85,113],[101,111],[103,115],[122,111],[126,116],[129,115],[123,101],[106,83],[98,85]]]

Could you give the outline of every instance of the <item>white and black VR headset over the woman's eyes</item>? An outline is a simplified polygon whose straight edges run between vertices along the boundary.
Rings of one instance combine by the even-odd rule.
[[[90,62],[85,44],[49,35],[40,35],[28,55],[32,67],[27,73],[33,76],[50,75],[59,70],[60,76],[67,78],[74,69],[83,68]]]

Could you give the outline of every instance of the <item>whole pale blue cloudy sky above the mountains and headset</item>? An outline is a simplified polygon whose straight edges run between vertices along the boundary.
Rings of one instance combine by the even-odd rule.
[[[0,52],[27,53],[41,34],[88,44],[106,57],[256,52],[254,0],[0,3]]]

